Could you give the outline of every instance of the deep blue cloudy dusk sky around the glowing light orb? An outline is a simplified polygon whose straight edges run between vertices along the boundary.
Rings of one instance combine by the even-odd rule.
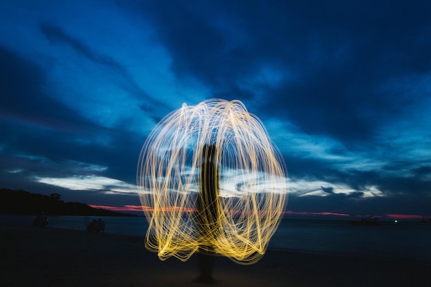
[[[282,152],[286,217],[429,217],[430,15],[430,1],[0,1],[0,188],[139,213],[151,130],[223,98]]]

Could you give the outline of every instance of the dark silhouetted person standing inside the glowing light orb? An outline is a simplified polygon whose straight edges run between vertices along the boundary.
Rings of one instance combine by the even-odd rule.
[[[213,242],[220,233],[220,203],[218,202],[217,150],[214,145],[204,145],[200,166],[200,193],[198,198],[198,264],[200,275],[194,281],[210,283],[213,281],[215,251]]]

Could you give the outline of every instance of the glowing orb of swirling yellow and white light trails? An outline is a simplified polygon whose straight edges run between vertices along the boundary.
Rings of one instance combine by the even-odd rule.
[[[218,150],[216,237],[196,230],[204,145]],[[280,151],[239,100],[183,104],[167,115],[143,145],[137,181],[149,221],[145,246],[161,260],[186,261],[200,246],[211,246],[234,262],[253,264],[264,255],[287,203]]]

